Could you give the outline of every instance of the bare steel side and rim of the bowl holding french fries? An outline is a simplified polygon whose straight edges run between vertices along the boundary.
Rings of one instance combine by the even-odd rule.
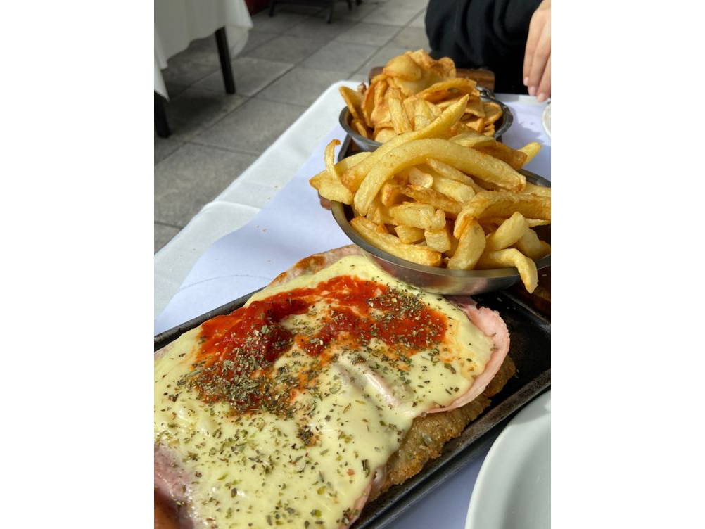
[[[551,187],[551,182],[546,178],[541,178],[530,171],[520,169],[521,174],[527,177],[527,181],[537,186]],[[449,270],[447,268],[427,267],[417,265],[384,250],[380,250],[365,241],[360,234],[350,226],[353,219],[353,208],[342,202],[331,202],[333,218],[338,225],[362,252],[373,262],[376,262],[382,269],[394,277],[406,281],[409,284],[423,288],[425,291],[439,294],[482,294],[509,288],[517,281],[520,281],[519,272],[516,268],[498,268],[494,270]],[[551,255],[546,255],[536,261],[537,269],[551,266]]]

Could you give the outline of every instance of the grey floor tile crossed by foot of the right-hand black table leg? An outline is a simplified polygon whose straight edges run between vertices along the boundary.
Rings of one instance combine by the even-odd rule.
[[[252,97],[266,85],[269,85],[269,83],[293,68],[293,66],[291,63],[266,61],[265,59],[255,59],[254,57],[238,57],[233,61],[236,93]],[[223,75],[220,71],[212,73],[212,75],[196,83],[194,87],[214,92],[225,92]]]

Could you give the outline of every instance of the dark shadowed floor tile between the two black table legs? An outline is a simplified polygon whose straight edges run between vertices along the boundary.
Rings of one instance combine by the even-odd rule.
[[[190,140],[245,101],[245,97],[237,94],[226,94],[224,87],[220,92],[188,88],[166,104],[166,119],[171,128],[171,138]]]

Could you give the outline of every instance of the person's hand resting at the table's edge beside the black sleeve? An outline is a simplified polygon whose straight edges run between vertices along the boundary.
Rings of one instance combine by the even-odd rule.
[[[551,97],[551,0],[544,0],[532,15],[524,55],[524,85],[539,102]]]

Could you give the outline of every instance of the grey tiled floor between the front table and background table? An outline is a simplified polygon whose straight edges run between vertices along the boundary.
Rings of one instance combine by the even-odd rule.
[[[429,49],[427,0],[367,0],[348,11],[277,6],[252,16],[233,60],[236,95],[223,87],[215,37],[192,42],[163,71],[169,138],[154,131],[154,253],[262,154],[326,87],[367,80],[407,49]],[[331,124],[332,126],[332,124]]]

